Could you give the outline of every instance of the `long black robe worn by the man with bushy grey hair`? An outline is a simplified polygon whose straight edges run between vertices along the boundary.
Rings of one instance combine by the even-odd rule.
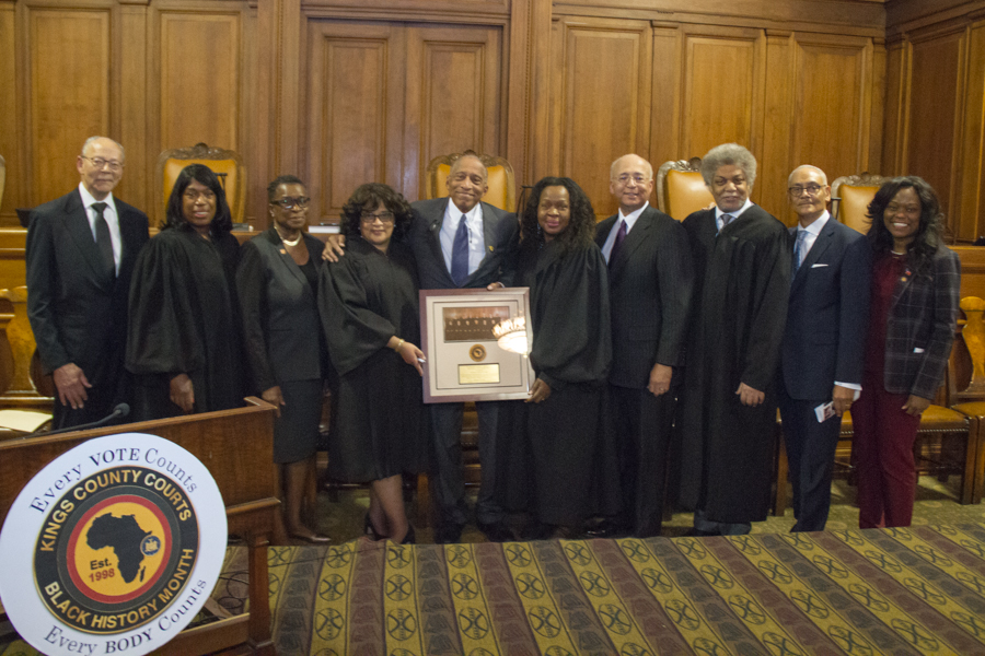
[[[684,220],[694,317],[676,421],[681,502],[727,523],[766,518],[775,444],[774,379],[790,293],[786,226],[752,206],[716,235],[715,210]],[[743,406],[740,383],[764,391]]]

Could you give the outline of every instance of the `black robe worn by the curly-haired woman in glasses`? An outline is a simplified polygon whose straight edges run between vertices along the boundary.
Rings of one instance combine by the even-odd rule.
[[[420,471],[427,455],[420,375],[386,347],[394,335],[420,347],[414,257],[394,242],[386,254],[360,237],[346,245],[346,256],[327,262],[318,283],[338,373],[328,473],[367,482]]]

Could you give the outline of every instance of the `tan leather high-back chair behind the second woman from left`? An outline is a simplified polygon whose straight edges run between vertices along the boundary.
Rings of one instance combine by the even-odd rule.
[[[225,189],[225,201],[233,222],[242,223],[246,209],[246,166],[243,159],[235,151],[210,148],[205,143],[167,150],[158,157],[154,179],[157,197],[162,203],[161,222],[163,223],[163,208],[167,207],[174,183],[182,169],[189,164],[205,164],[212,169]]]

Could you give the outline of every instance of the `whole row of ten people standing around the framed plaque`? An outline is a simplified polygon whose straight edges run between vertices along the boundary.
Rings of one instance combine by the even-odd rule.
[[[530,289],[536,375],[524,401],[477,401],[476,524],[520,537],[660,535],[665,503],[692,534],[740,535],[765,519],[776,409],[793,483],[793,530],[821,530],[841,417],[851,408],[861,527],[909,524],[913,442],[953,340],[960,262],[934,190],[894,178],[866,235],[833,220],[824,173],[789,176],[799,224],[750,201],[753,155],[711,149],[712,207],[677,222],[649,203],[653,169],[610,169],[616,214],[595,223],[577,183],[545,177],[519,216],[482,201],[488,174],[455,160],[448,198],[408,203],[360,186],[327,246],[309,235],[299,178],[268,187],[273,224],[240,247],[216,175],[182,171],[159,235],[115,199],[115,141],[92,138],[79,188],[36,208],[28,314],[54,376],[56,427],[235,408],[277,408],[289,535],[327,541],[301,516],[324,386],[329,473],[370,484],[366,531],[413,542],[402,475],[429,471],[434,541],[470,519],[463,405],[421,400],[418,291]],[[324,260],[324,261],[323,261]],[[482,292],[479,292],[482,293]],[[665,496],[669,496],[665,499]]]

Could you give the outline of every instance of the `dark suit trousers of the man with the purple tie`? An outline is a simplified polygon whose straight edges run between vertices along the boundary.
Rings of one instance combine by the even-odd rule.
[[[609,393],[623,491],[622,519],[636,537],[659,536],[674,389],[657,397],[646,388],[610,385]]]

